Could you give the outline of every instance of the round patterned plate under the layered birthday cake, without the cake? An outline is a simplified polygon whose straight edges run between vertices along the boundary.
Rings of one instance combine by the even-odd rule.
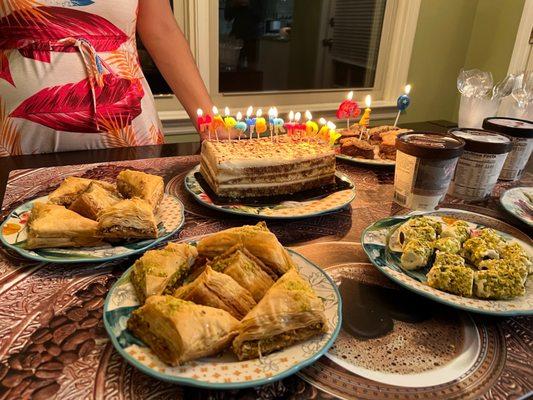
[[[196,166],[185,176],[185,189],[198,203],[229,214],[271,220],[310,218],[338,211],[350,204],[355,198],[355,186],[353,182],[347,175],[337,171],[335,173],[337,178],[349,183],[351,187],[319,199],[283,201],[277,204],[261,206],[245,203],[215,204],[195,177],[195,174],[199,170],[200,166]]]

